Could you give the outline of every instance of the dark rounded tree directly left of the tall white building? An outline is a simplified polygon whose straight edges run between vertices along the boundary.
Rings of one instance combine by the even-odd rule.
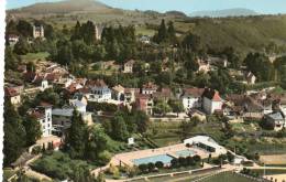
[[[26,132],[26,146],[32,146],[42,136],[42,126],[33,116],[26,116],[23,120]]]

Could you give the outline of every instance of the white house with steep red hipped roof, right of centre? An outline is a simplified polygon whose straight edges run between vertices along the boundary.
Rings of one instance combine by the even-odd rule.
[[[205,88],[202,94],[202,109],[207,114],[213,114],[217,110],[221,110],[222,104],[223,103],[218,90]]]

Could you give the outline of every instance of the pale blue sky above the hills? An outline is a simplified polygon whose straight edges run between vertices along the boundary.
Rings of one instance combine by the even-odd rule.
[[[0,0],[2,1],[2,0]],[[7,9],[20,8],[36,2],[61,0],[7,0]],[[286,0],[99,0],[108,6],[128,10],[169,10],[191,13],[205,10],[246,8],[263,14],[286,13]]]

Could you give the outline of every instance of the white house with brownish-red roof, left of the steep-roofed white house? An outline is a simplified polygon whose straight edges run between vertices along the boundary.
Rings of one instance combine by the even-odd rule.
[[[201,95],[205,88],[185,88],[182,95],[184,109],[188,111],[191,108],[201,108]]]

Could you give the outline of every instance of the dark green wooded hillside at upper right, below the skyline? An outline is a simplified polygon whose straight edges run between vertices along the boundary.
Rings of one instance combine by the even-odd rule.
[[[263,51],[275,43],[286,50],[286,15],[190,20],[193,32],[210,47],[233,46],[242,51]]]

